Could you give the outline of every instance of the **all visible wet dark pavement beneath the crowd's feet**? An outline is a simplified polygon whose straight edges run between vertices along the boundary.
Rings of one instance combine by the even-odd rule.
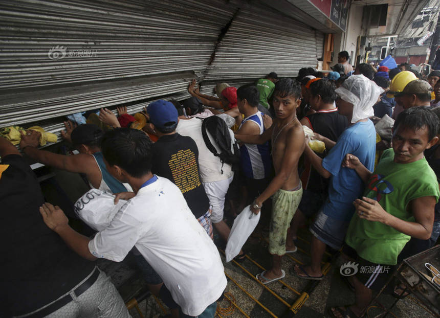
[[[261,231],[260,226],[257,227],[244,246],[247,259],[243,264],[237,264],[234,261],[226,263],[226,258],[222,253],[223,249],[220,249],[225,273],[228,278],[228,285],[225,290],[226,297],[233,300],[236,306],[233,306],[227,299],[218,302],[218,306],[223,309],[217,316],[220,318],[246,316],[251,318],[284,317],[310,282],[309,280],[296,278],[289,273],[293,265],[298,263],[307,264],[310,261],[308,252],[310,250],[311,234],[305,229],[300,229],[298,236],[298,252],[292,255],[285,255],[282,260],[282,269],[286,272],[285,278],[266,286],[260,284],[255,279],[255,275],[259,274],[263,270],[262,268],[266,269],[271,266],[271,255],[267,248],[268,239],[266,234]],[[217,245],[223,244],[217,242]],[[328,257],[329,254],[326,254],[325,258]],[[294,315],[295,317],[329,317],[327,314],[328,307],[354,303],[354,292],[348,288],[339,274],[339,266],[344,263],[344,260],[341,257],[337,257],[335,263],[336,265],[329,269],[325,278],[310,293],[310,298],[305,300],[299,311]],[[130,293],[133,290],[124,292]],[[124,297],[124,299],[126,298]],[[378,316],[384,312],[380,307],[385,306],[388,308],[394,301],[393,297],[382,294],[378,302],[369,308],[366,317]],[[164,315],[164,311],[158,305],[158,301],[153,297],[142,301],[139,307],[144,317],[157,318]],[[391,312],[392,314],[388,314],[388,317],[420,318],[430,316],[430,313],[417,304],[413,297],[400,300]],[[130,309],[130,314],[133,317],[141,317],[135,308]]]

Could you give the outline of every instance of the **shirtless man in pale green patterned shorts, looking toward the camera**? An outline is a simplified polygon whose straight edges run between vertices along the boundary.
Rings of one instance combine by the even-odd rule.
[[[256,276],[263,284],[285,276],[281,269],[281,259],[285,253],[293,252],[295,247],[290,235],[290,221],[302,195],[298,160],[305,143],[304,131],[296,118],[300,97],[301,87],[297,81],[290,78],[279,80],[275,84],[273,99],[277,119],[272,126],[261,135],[235,135],[247,144],[261,145],[272,139],[272,160],[276,175],[251,205],[251,211],[258,214],[263,202],[273,195],[269,233],[269,253],[272,254],[273,264],[271,269]]]

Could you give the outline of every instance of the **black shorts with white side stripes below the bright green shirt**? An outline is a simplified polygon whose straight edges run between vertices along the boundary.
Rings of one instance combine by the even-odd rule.
[[[365,287],[380,291],[385,284],[388,282],[389,278],[392,276],[396,265],[384,265],[371,263],[358,255],[353,247],[344,245],[342,252],[350,258],[355,259],[356,264],[354,266],[341,266],[340,274],[350,276],[355,275],[359,281],[365,285]],[[342,268],[344,267],[344,268]],[[351,267],[350,269],[348,267]],[[353,271],[352,273],[350,271]]]

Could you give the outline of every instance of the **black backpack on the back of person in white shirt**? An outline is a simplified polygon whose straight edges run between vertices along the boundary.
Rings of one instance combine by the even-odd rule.
[[[221,153],[218,153],[215,147],[212,145],[206,131],[209,131],[209,133],[212,135],[217,143],[218,148],[221,149]],[[232,165],[232,171],[238,171],[240,166],[240,149],[235,140],[232,143],[229,128],[225,121],[218,116],[210,116],[205,118],[202,123],[202,135],[209,151],[211,151],[216,157],[220,158],[220,162],[222,163],[222,174],[223,165],[225,163]],[[231,146],[234,149],[234,153],[231,151]]]

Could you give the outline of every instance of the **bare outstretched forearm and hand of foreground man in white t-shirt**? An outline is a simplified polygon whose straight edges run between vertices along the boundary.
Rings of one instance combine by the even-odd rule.
[[[97,259],[89,250],[91,239],[74,231],[69,226],[69,219],[59,207],[45,203],[40,207],[40,213],[48,228],[57,233],[76,254],[90,261]]]

